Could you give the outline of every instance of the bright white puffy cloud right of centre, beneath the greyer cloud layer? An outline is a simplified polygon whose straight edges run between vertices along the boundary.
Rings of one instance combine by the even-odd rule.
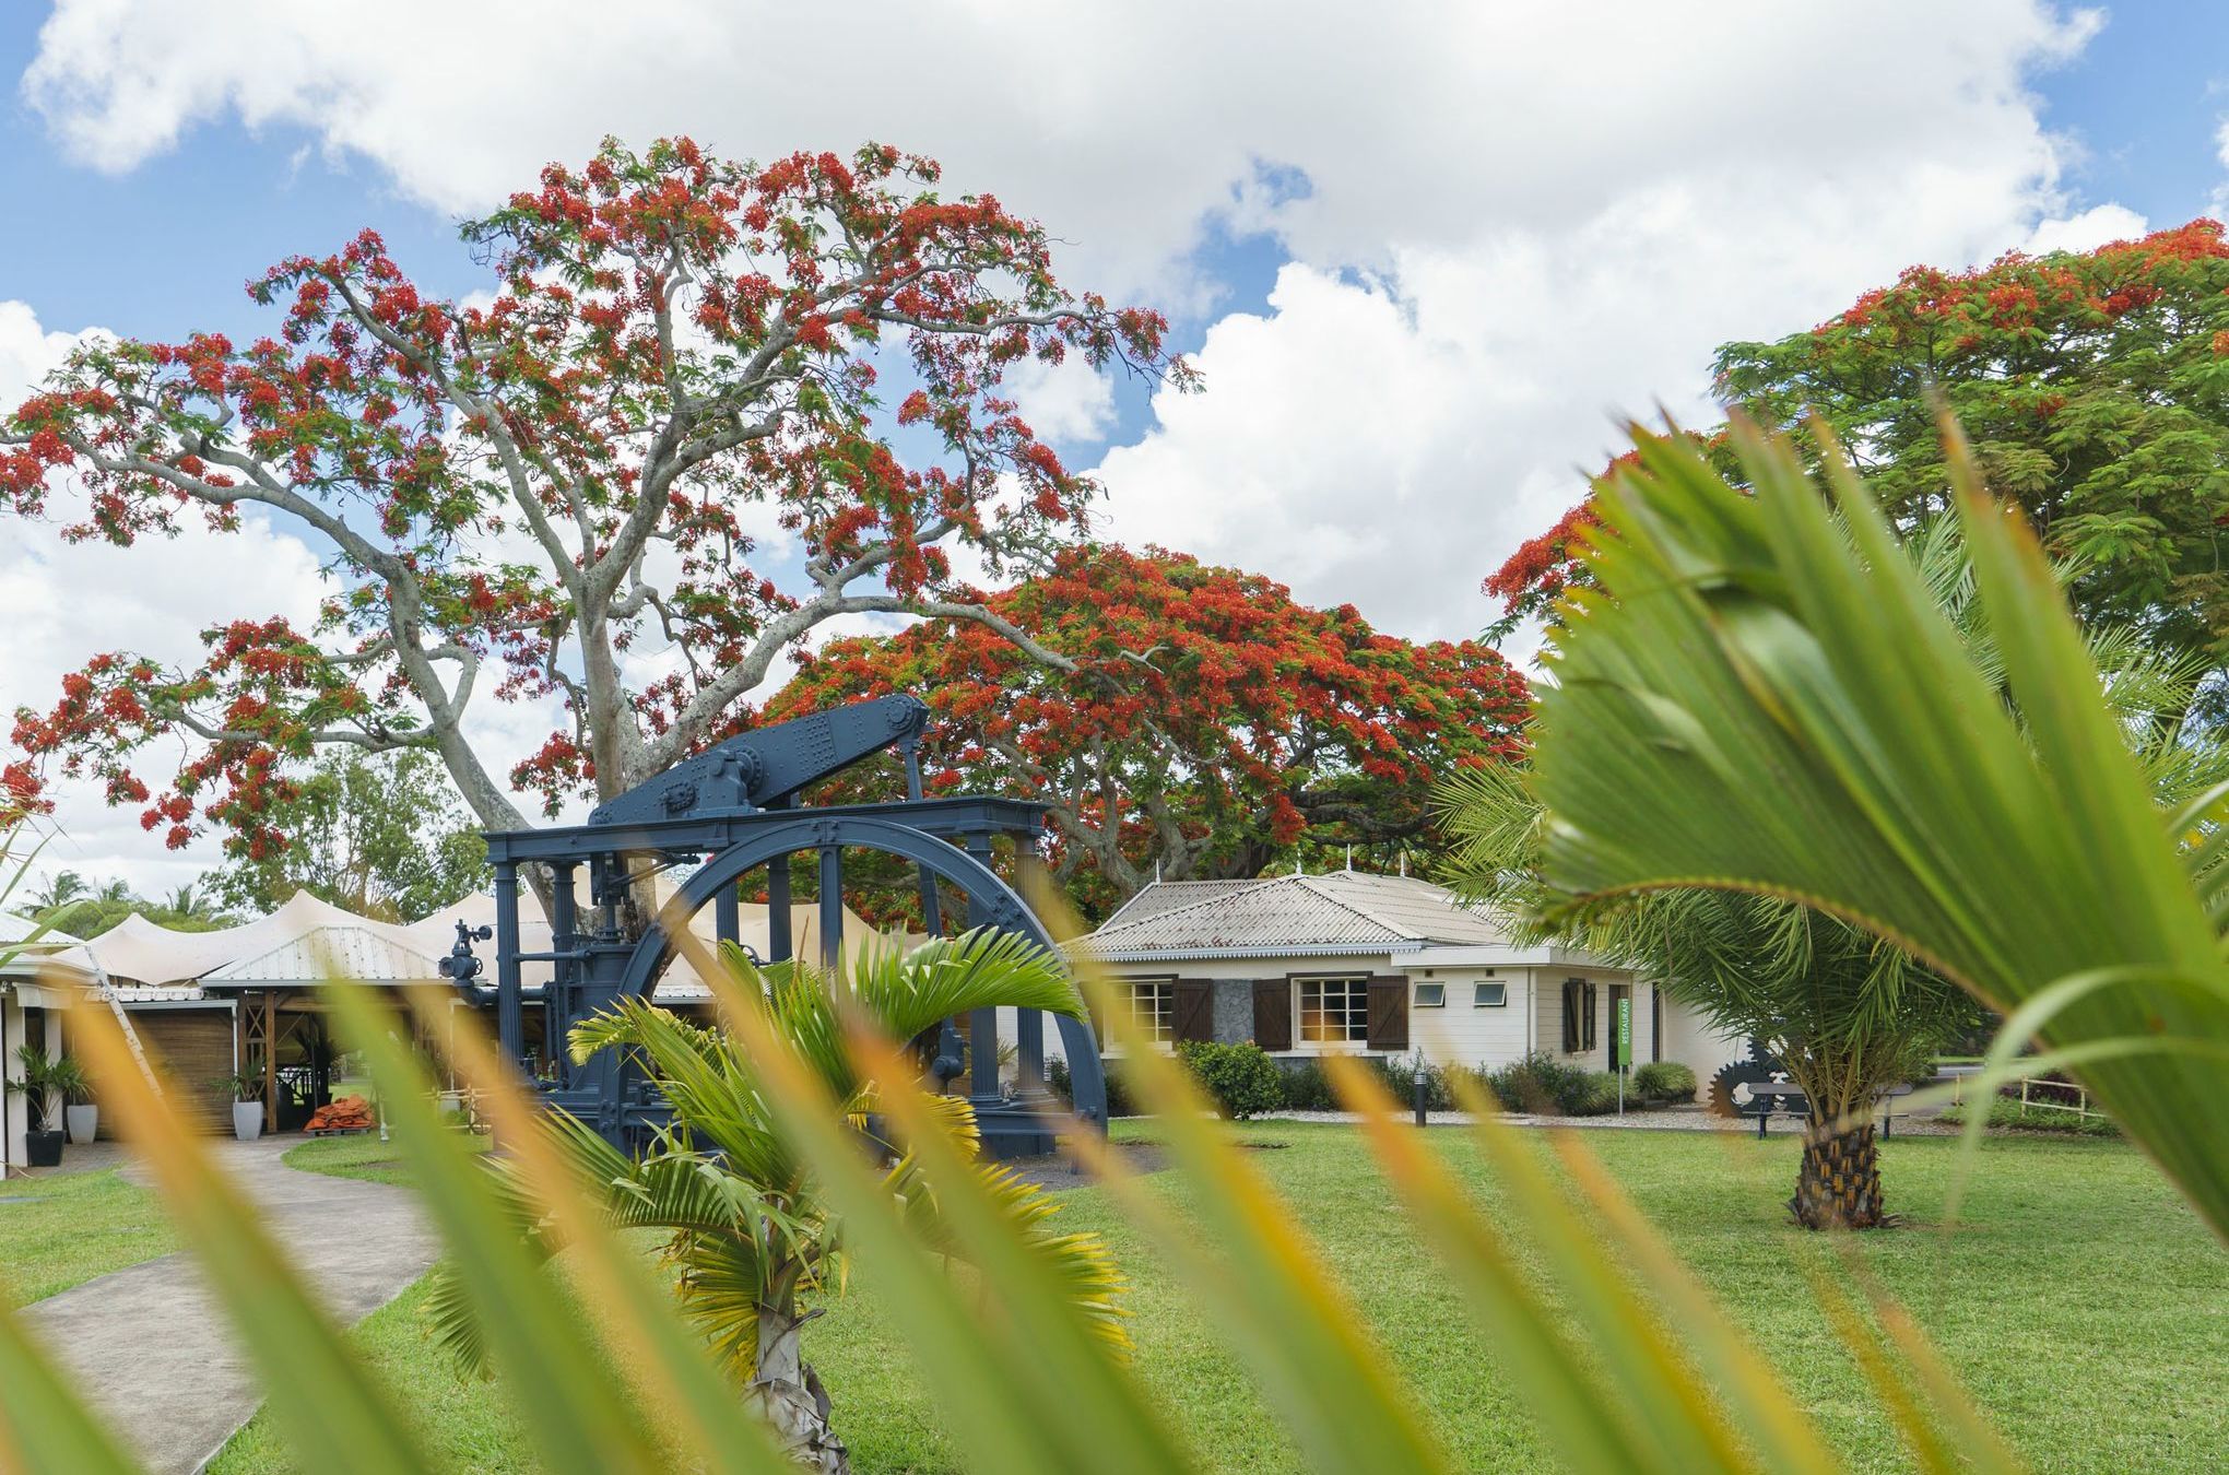
[[[1832,185],[1692,174],[1574,229],[1398,250],[1384,276],[1286,265],[1268,314],[1208,332],[1208,392],[1161,394],[1106,457],[1112,533],[1471,635],[1500,613],[1480,579],[1583,495],[1616,417],[1714,421],[1714,345],[1817,323],[1910,261],[1995,256],[2037,189],[1941,158]]]

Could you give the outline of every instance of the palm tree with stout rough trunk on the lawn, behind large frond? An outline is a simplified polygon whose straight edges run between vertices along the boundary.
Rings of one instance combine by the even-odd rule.
[[[1955,519],[1919,528],[1901,555],[1966,660],[2002,688],[2004,662]],[[2064,579],[2073,568],[2057,573]],[[1585,619],[1576,613],[1565,637],[1580,635]],[[2089,646],[2160,800],[2220,782],[2229,762],[2222,746],[2193,742],[2180,724],[2204,666],[2162,657],[2120,628],[2091,633]],[[1547,820],[1527,769],[1456,773],[1440,789],[1440,813],[1453,842],[1444,878],[1498,907],[1518,940],[1565,940],[1638,969],[1719,1029],[1779,1056],[1808,1101],[1788,1201],[1797,1223],[1877,1228],[1888,1219],[1870,1107],[1977,1023],[1975,1003],[1955,983],[1901,947],[1783,896],[1663,889],[1560,898],[1540,880]]]

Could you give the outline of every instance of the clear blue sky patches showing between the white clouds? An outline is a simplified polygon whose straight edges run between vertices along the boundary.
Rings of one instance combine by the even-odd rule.
[[[2216,129],[2229,114],[2229,7],[2155,0],[2104,16],[2075,60],[2031,80],[2044,123],[2080,145],[2071,192],[2080,205],[2122,203],[2155,227],[2204,214],[2225,178]],[[40,20],[29,4],[0,18],[0,76],[31,65]],[[455,214],[406,198],[363,158],[323,156],[308,127],[223,118],[111,174],[69,160],[13,87],[0,109],[0,198],[18,203],[22,223],[0,232],[0,296],[31,303],[49,328],[254,330],[259,314],[241,294],[252,272],[366,225],[435,290],[481,283],[455,241]],[[1282,258],[1275,238],[1230,232],[1213,232],[1195,254],[1217,287],[1217,316],[1257,312]],[[1206,323],[1184,323],[1190,348]],[[1132,417],[1110,439],[1135,430]]]

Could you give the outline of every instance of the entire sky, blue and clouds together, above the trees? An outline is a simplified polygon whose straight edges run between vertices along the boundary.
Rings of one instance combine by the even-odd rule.
[[[1041,216],[1072,283],[1168,307],[1197,354],[1208,390],[1184,401],[1028,397],[1099,470],[1112,535],[1460,637],[1614,412],[1710,412],[1719,341],[1799,330],[1912,261],[2180,225],[2229,185],[2229,7],[1406,0],[1369,33],[1317,9],[876,11],[838,87],[765,62],[811,56],[829,7],[7,7],[0,394],[87,328],[261,332],[245,279],[366,225],[421,285],[475,290],[455,221],[602,131],[742,156],[887,138]],[[317,555],[281,526],[134,555],[25,526],[0,599],[36,613],[0,651],[0,711],[94,648],[187,660],[218,615],[303,608]],[[497,751],[548,729],[481,722]],[[149,853],[129,815],[71,833],[143,885],[205,858]]]

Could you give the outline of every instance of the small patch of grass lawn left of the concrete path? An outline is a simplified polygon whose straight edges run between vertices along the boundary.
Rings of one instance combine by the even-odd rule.
[[[9,1306],[176,1248],[163,1201],[116,1168],[0,1183],[0,1297]]]

